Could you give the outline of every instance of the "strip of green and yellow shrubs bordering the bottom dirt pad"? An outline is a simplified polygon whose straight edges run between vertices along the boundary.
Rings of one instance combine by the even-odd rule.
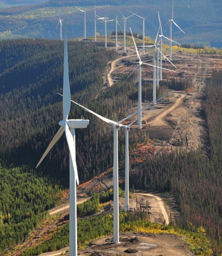
[[[51,252],[68,246],[68,224],[59,229],[52,238],[44,241],[38,247],[27,249],[22,255],[37,255],[38,252]],[[201,230],[201,229],[200,229]],[[196,255],[212,255],[210,242],[202,232],[186,232],[179,228],[150,223],[146,213],[136,211],[134,213],[120,214],[120,232],[141,231],[142,233],[175,234],[183,236]],[[78,248],[83,249],[96,238],[104,237],[113,232],[113,215],[91,217],[78,221]]]

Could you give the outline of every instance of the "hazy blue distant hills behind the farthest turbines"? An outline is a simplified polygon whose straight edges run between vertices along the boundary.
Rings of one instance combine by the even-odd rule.
[[[4,15],[0,21],[1,37],[29,36],[31,38],[59,39],[59,28],[55,28],[59,21],[59,7],[61,7],[62,19],[67,22],[68,35],[83,37],[83,14],[77,11],[73,7],[74,5],[88,10],[86,34],[94,36],[94,10],[92,7],[95,4],[99,6],[97,14],[101,17],[107,15],[110,19],[115,19],[119,11],[123,12],[125,16],[130,15],[126,9],[138,12],[143,17],[149,16],[149,19],[146,19],[146,35],[152,38],[155,38],[158,30],[157,11],[160,11],[163,31],[166,36],[170,33],[168,20],[171,17],[171,0],[139,0],[136,1],[136,4],[133,0],[51,0],[36,6],[0,9],[0,14]],[[220,0],[176,1],[175,20],[186,32],[186,35],[179,32],[178,28],[173,27],[173,37],[180,43],[222,47],[221,12]],[[120,16],[119,22],[123,28]],[[104,35],[104,24],[97,22],[97,26],[97,32]],[[130,27],[133,32],[142,34],[142,20],[138,17],[128,20],[128,31],[130,31]],[[108,33],[115,30],[115,23],[109,23],[107,29]]]

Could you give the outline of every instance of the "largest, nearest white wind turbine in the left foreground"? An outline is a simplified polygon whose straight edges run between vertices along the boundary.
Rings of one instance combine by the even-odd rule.
[[[44,160],[47,153],[60,139],[65,131],[65,137],[68,143],[68,149],[70,152],[70,229],[69,229],[69,250],[70,255],[77,256],[77,214],[76,214],[76,182],[79,184],[78,171],[76,166],[76,143],[75,143],[75,129],[86,128],[89,124],[89,120],[83,119],[68,119],[71,106],[71,94],[70,83],[68,76],[68,46],[67,38],[64,42],[64,85],[63,85],[63,119],[59,122],[60,129],[55,134],[51,143],[47,147],[43,156],[39,160],[36,168]]]

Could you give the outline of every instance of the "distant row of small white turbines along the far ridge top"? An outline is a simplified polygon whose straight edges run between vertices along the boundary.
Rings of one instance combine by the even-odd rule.
[[[82,9],[80,9],[79,7],[74,6],[76,9],[78,9],[78,11],[83,12],[84,13],[84,39],[86,39],[86,12]],[[141,15],[138,15],[138,13],[134,13],[131,12],[129,10],[127,10],[128,12],[131,13],[130,16],[125,17],[122,13],[122,19],[123,19],[123,53],[126,54],[126,21],[130,18],[133,17],[134,15],[136,15],[137,17],[139,17],[140,19],[142,19],[142,55],[145,55],[145,20],[147,19],[147,17],[142,17]],[[185,34],[185,32],[179,27],[179,25],[175,22],[175,20],[173,19],[174,16],[174,4],[172,7],[172,12],[171,12],[171,19],[168,20],[170,22],[170,38],[167,38],[167,36],[163,35],[163,30],[162,30],[162,26],[160,27],[160,32],[161,34],[159,35],[159,37],[165,38],[168,41],[170,41],[170,60],[172,59],[172,43],[176,43],[179,45],[179,43],[177,43],[176,41],[172,40],[172,24],[174,24],[177,28],[179,28],[179,30],[181,30],[181,32],[183,32]],[[158,13],[158,19],[160,20],[160,15]],[[118,25],[120,26],[119,22],[118,22],[118,15],[115,19],[110,20],[109,17],[99,17],[99,15],[96,14],[96,6],[94,7],[94,41],[97,41],[97,25],[96,22],[97,20],[102,20],[105,23],[105,48],[107,48],[107,23],[108,22],[113,22],[115,20],[115,48],[116,50],[118,50]],[[60,25],[60,40],[62,40],[62,19],[60,17],[60,11],[59,11],[59,22],[57,24]],[[160,48],[162,50],[162,38],[160,41]],[[160,56],[160,59],[162,59],[162,57]],[[161,61],[160,61],[161,62]],[[160,79],[162,79],[161,77],[162,74],[160,74]]]

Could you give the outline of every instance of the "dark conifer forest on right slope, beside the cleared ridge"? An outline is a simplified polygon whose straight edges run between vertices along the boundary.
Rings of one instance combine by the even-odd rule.
[[[191,231],[204,226],[212,239],[215,255],[222,250],[221,79],[222,72],[215,71],[207,84],[204,111],[210,137],[210,159],[198,152],[174,152],[132,166],[130,176],[131,187],[135,189],[173,194],[181,212],[178,224]]]

